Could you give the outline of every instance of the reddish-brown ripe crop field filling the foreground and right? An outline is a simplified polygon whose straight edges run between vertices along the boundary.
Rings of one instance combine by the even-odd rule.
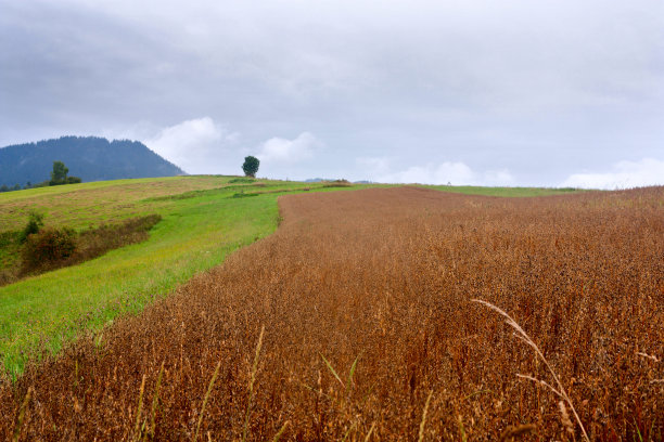
[[[0,438],[663,440],[664,187],[279,202],[274,234],[0,386]]]

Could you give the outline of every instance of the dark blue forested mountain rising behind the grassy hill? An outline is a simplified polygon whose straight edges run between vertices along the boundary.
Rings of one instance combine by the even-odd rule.
[[[184,173],[138,141],[62,136],[0,148],[0,186],[49,180],[53,161],[63,161],[69,176],[84,182]]]

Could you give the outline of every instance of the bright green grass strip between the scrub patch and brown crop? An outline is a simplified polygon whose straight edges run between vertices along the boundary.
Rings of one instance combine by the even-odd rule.
[[[0,287],[4,369],[15,377],[41,348],[56,352],[81,330],[140,311],[277,227],[276,195],[227,196],[173,202],[144,243]]]

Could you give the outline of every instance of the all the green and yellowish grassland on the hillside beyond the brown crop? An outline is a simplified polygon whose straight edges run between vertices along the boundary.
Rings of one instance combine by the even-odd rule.
[[[307,188],[331,192],[379,186],[243,181],[218,176],[174,177],[0,194],[0,235],[21,230],[30,210],[46,213],[47,225],[77,230],[150,213],[163,217],[146,242],[0,287],[0,359],[5,373],[15,377],[26,360],[38,356],[39,351],[58,352],[78,334],[99,330],[120,314],[140,311],[194,274],[217,265],[231,251],[269,235],[279,222],[279,195]],[[569,192],[430,187],[495,196]],[[243,197],[247,195],[253,197]],[[15,252],[0,249],[0,258],[12,262],[9,255]]]

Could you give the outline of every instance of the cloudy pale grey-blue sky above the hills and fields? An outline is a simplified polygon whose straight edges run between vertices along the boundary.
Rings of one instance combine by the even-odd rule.
[[[664,184],[662,0],[0,0],[0,146],[189,173]]]

